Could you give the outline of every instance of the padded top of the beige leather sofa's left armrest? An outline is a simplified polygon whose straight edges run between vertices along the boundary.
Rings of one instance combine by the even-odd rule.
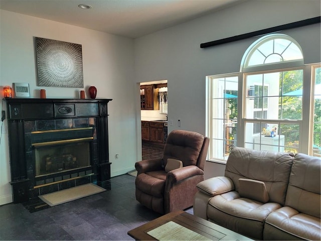
[[[199,191],[216,196],[234,190],[234,183],[228,177],[212,177],[197,184]]]

